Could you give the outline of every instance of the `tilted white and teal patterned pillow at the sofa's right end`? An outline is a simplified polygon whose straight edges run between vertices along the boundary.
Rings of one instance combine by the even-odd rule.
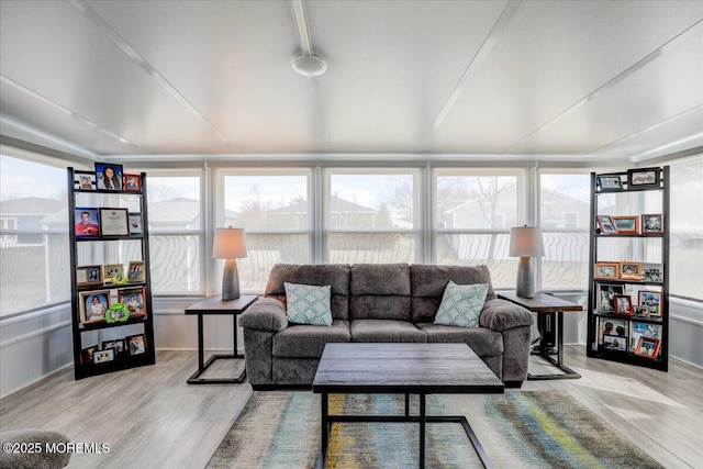
[[[478,327],[487,294],[488,283],[456,284],[449,280],[444,289],[435,324]]]

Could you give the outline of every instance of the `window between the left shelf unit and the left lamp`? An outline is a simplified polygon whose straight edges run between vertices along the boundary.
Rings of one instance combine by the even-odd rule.
[[[147,172],[149,268],[155,294],[204,291],[201,180],[200,171]]]

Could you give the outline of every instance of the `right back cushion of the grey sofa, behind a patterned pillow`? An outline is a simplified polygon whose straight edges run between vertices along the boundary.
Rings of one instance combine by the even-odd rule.
[[[457,284],[488,283],[486,301],[495,299],[488,266],[410,266],[412,322],[434,321],[449,280]]]

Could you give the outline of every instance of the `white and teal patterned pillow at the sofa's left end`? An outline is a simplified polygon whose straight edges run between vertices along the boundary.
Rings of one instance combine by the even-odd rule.
[[[332,309],[330,286],[317,287],[283,282],[286,288],[286,315],[288,321],[295,324],[320,326],[332,325]]]

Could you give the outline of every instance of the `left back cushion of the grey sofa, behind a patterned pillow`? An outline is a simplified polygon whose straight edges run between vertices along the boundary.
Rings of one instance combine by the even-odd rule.
[[[331,309],[335,320],[349,319],[349,266],[346,264],[298,265],[277,264],[266,286],[266,297],[286,302],[283,283],[330,286]]]

